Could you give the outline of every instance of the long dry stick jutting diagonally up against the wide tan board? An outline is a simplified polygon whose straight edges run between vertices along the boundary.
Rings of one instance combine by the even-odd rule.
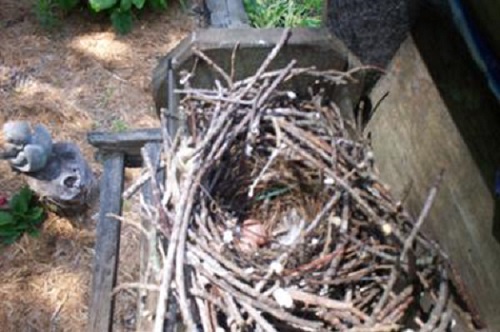
[[[406,256],[408,250],[410,250],[410,248],[413,246],[414,240],[415,240],[415,238],[420,230],[420,227],[422,226],[424,220],[426,219],[427,215],[429,214],[429,211],[432,207],[432,204],[434,203],[434,199],[436,197],[437,190],[439,188],[439,185],[441,184],[441,180],[443,179],[443,173],[444,173],[444,171],[441,171],[439,173],[438,177],[436,178],[436,180],[434,181],[434,185],[432,186],[432,188],[429,192],[429,195],[427,196],[427,200],[425,201],[424,207],[423,207],[422,211],[420,212],[420,215],[417,219],[417,222],[415,223],[415,226],[413,227],[412,232],[410,233],[408,238],[404,241],[403,251],[401,252],[400,259],[399,259],[400,263],[404,261],[404,258]],[[373,309],[372,316],[371,316],[371,319],[369,322],[370,324],[375,323],[377,316],[379,315],[380,311],[382,310],[385,303],[387,302],[387,299],[389,298],[389,294],[391,293],[392,288],[394,287],[394,285],[396,283],[396,280],[398,277],[398,269],[399,269],[399,264],[394,265],[393,268],[391,269],[389,282],[386,285],[386,288],[384,290],[384,294],[382,295],[382,297],[378,301],[377,305]]]

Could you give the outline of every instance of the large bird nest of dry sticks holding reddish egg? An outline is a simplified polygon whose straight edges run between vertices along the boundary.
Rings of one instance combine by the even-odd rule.
[[[189,331],[446,331],[444,255],[419,231],[440,177],[421,214],[405,212],[335,103],[282,88],[352,84],[353,71],[267,71],[286,38],[252,77],[234,82],[196,51],[225,83],[181,79],[189,135],[165,135],[148,207],[166,243],[156,327],[179,314]]]

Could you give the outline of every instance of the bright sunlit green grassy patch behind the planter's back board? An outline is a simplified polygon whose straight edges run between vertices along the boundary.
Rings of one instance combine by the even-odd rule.
[[[244,0],[255,28],[321,26],[323,0]]]

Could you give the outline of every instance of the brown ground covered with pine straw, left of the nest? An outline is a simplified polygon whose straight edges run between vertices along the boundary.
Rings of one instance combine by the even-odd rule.
[[[32,0],[3,0],[0,8],[0,126],[8,120],[43,123],[56,141],[77,142],[92,167],[91,130],[156,127],[150,80],[157,59],[195,27],[195,18],[168,1],[161,14],[138,17],[117,36],[107,20],[82,13],[57,31],[42,29]],[[137,172],[127,171],[128,181]],[[23,180],[0,162],[0,194]],[[125,217],[137,218],[133,204]],[[95,212],[95,211],[94,211]],[[138,276],[138,231],[122,227],[119,283]],[[38,238],[0,248],[0,332],[83,331],[90,297],[95,220],[50,215]],[[135,293],[117,295],[116,331],[134,329]]]

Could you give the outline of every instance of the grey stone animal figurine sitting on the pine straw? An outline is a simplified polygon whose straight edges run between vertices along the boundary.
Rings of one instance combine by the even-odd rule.
[[[79,213],[96,197],[95,176],[78,146],[53,143],[47,128],[25,121],[7,122],[1,159],[26,176],[31,189],[55,212]]]

